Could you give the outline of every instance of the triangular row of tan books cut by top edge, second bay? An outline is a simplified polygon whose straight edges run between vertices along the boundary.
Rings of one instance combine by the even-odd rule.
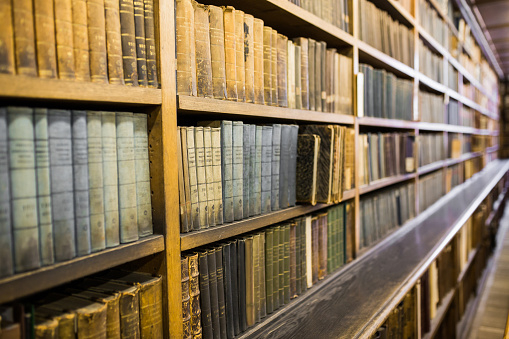
[[[290,2],[302,7],[308,12],[313,13],[326,22],[341,28],[345,32],[350,32],[350,3],[348,0],[289,0]]]

